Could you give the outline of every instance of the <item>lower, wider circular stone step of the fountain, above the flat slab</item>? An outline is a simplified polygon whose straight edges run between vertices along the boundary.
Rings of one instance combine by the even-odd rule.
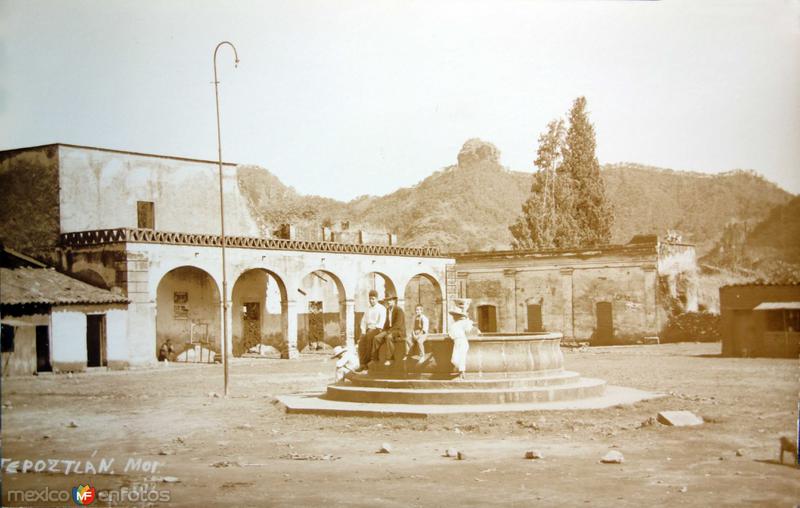
[[[505,404],[515,402],[552,402],[599,397],[605,391],[602,379],[579,378],[575,382],[552,386],[521,388],[374,388],[330,385],[324,398],[345,402],[382,404]]]

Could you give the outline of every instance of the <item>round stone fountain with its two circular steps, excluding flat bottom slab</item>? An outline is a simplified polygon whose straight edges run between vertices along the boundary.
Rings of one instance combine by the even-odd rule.
[[[504,404],[596,397],[605,382],[564,370],[560,333],[486,333],[469,339],[464,379],[454,376],[453,341],[430,335],[432,358],[419,365],[398,348],[391,366],[380,361],[367,374],[328,386],[325,399],[382,404]]]

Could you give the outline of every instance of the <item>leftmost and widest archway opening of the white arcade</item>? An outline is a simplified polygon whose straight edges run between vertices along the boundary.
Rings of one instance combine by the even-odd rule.
[[[156,347],[169,339],[175,357],[184,350],[202,347],[211,361],[221,351],[220,290],[214,278],[195,266],[179,266],[166,272],[156,288]]]

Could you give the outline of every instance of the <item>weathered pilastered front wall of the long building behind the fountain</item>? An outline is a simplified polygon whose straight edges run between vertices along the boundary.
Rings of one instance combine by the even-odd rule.
[[[656,266],[655,243],[456,257],[459,292],[472,300],[474,320],[479,307],[492,306],[498,332],[520,333],[538,324],[540,309],[545,331],[593,344],[658,335]],[[610,308],[607,334],[598,332],[598,304]]]

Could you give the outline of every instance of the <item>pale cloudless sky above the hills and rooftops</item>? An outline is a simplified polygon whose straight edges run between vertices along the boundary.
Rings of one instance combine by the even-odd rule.
[[[0,150],[215,160],[305,194],[413,185],[479,137],[532,171],[584,95],[601,163],[800,193],[800,1],[0,0]]]

